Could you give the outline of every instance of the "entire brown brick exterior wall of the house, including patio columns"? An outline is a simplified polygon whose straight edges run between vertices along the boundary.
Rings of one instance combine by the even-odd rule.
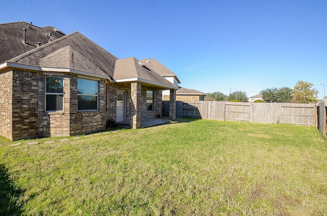
[[[18,140],[105,129],[108,121],[115,123],[117,89],[126,91],[126,120],[132,128],[141,127],[141,119],[161,116],[161,90],[141,83],[113,84],[104,79],[99,80],[99,111],[78,111],[78,76],[63,76],[63,111],[45,112],[46,76],[42,72],[11,69],[0,73],[0,136]],[[153,111],[146,110],[147,90],[153,91]]]

